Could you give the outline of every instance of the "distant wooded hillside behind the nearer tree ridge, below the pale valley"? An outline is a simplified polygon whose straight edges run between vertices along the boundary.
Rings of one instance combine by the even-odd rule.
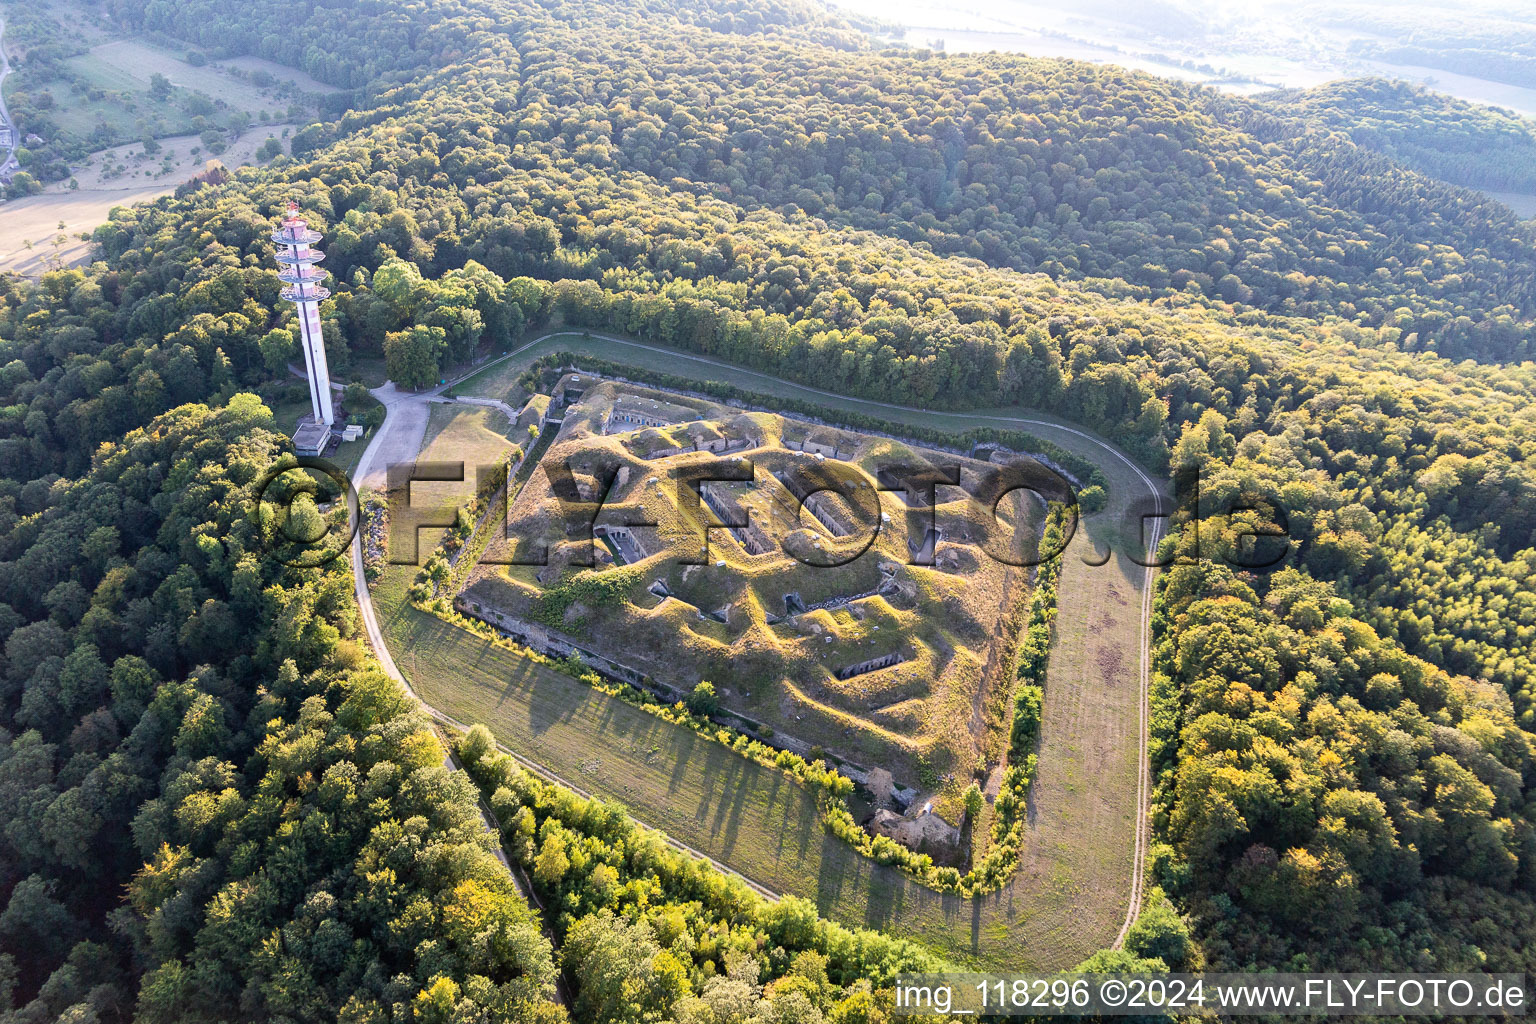
[[[121,9],[204,35],[232,17],[197,5]],[[1530,226],[1405,173],[1364,129],[1341,137],[1316,98],[1292,111],[1071,61],[839,52],[803,43],[843,37],[796,5],[754,18],[731,5],[668,6],[676,31],[639,31],[668,17],[616,18],[596,3],[498,9],[490,28],[449,6],[409,17],[379,6],[341,34],[335,12],[316,8],[306,71],[358,84],[387,71],[379,61],[413,64],[369,120],[481,120],[492,137],[459,143],[478,152],[476,167],[508,146],[513,166],[574,158],[995,267],[1336,315],[1456,356],[1527,352]],[[221,38],[264,52],[264,26],[289,17],[281,5],[243,8]],[[694,28],[705,23],[753,31]],[[1353,121],[1373,117],[1362,95],[1339,98]],[[1430,137],[1387,155],[1448,150]]]

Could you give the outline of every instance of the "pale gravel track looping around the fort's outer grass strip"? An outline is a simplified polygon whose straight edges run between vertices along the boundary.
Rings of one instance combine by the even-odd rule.
[[[361,459],[358,461],[358,467],[356,467],[356,471],[355,471],[355,481],[358,482],[358,487],[367,485],[367,487],[378,488],[378,487],[381,487],[384,484],[384,468],[389,464],[392,464],[392,462],[410,462],[410,461],[415,461],[415,457],[416,457],[416,454],[418,454],[418,451],[421,448],[422,438],[425,434],[427,413],[429,413],[430,404],[433,401],[442,401],[441,399],[442,391],[449,390],[450,387],[462,382],[464,379],[467,379],[467,378],[470,378],[470,376],[473,376],[476,373],[481,373],[482,370],[485,370],[485,368],[488,368],[492,365],[498,365],[498,364],[505,362],[508,359],[515,359],[519,355],[528,353],[531,348],[535,348],[535,347],[538,347],[538,345],[541,345],[541,344],[544,344],[544,342],[547,342],[547,341],[550,341],[553,338],[568,336],[568,335],[570,335],[570,332],[554,332],[554,333],[541,335],[539,338],[535,338],[535,339],[531,339],[528,342],[524,342],[518,348],[505,353],[504,356],[499,356],[498,359],[493,359],[493,361],[490,361],[487,364],[473,367],[468,373],[465,373],[465,375],[462,375],[462,376],[459,376],[459,378],[456,378],[456,379],[453,379],[453,381],[450,381],[450,382],[447,382],[444,385],[439,385],[436,388],[427,390],[427,391],[402,391],[402,390],[396,388],[393,384],[386,384],[384,387],[375,388],[373,390],[373,396],[378,398],[378,401],[384,405],[386,418],[384,418],[382,425],[378,428],[378,431],[375,433],[373,439],[369,442],[367,448],[364,450]],[[894,402],[880,402],[880,401],[876,401],[876,399],[851,398],[851,396],[846,396],[846,395],[839,395],[836,391],[828,391],[828,390],[822,390],[822,388],[816,388],[816,387],[809,387],[809,385],[803,385],[803,384],[794,384],[791,381],[783,381],[783,379],[776,378],[773,375],[759,373],[759,372],[754,372],[754,370],[746,370],[746,368],[743,368],[740,365],[736,365],[736,364],[723,362],[723,361],[719,361],[719,359],[711,359],[708,356],[699,356],[699,355],[693,355],[693,353],[687,353],[687,352],[679,352],[676,348],[668,348],[668,347],[662,347],[662,345],[650,345],[650,344],[631,341],[631,339],[627,339],[627,338],[616,338],[616,336],[611,336],[611,335],[599,335],[599,333],[587,333],[585,336],[593,338],[593,339],[599,339],[599,341],[607,342],[610,345],[631,347],[631,348],[636,348],[636,350],[645,350],[645,352],[650,352],[650,353],[659,353],[659,355],[664,355],[667,359],[676,361],[676,362],[691,362],[691,364],[699,364],[699,365],[707,365],[707,367],[725,368],[725,370],[730,370],[734,376],[748,376],[748,378],[760,379],[763,382],[771,382],[773,385],[776,385],[779,388],[790,388],[790,390],[794,390],[794,391],[806,393],[806,395],[816,395],[816,396],[820,396],[820,398],[829,398],[829,399],[836,399],[837,402],[842,402],[842,404],[862,405],[862,407],[868,407],[868,408],[874,408],[874,410],[891,410],[891,411],[900,411],[900,413],[920,413],[920,415],[925,415],[925,416],[929,416],[929,418],[949,421],[949,422],[954,422],[957,425],[960,425],[960,424],[966,424],[966,425],[971,425],[971,424],[988,424],[988,425],[997,425],[997,427],[1029,428],[1031,431],[1034,431],[1038,436],[1043,436],[1046,439],[1051,439],[1052,433],[1069,434],[1075,441],[1078,441],[1080,445],[1081,445],[1081,442],[1087,442],[1095,450],[1100,450],[1104,456],[1107,456],[1111,461],[1114,461],[1115,464],[1118,464],[1121,468],[1129,470],[1134,474],[1134,477],[1137,481],[1140,481],[1140,484],[1143,487],[1146,487],[1147,496],[1150,499],[1150,508],[1155,510],[1154,516],[1161,514],[1163,508],[1164,508],[1163,493],[1158,488],[1158,485],[1127,454],[1124,454],[1123,451],[1120,451],[1114,445],[1101,441],[1100,438],[1095,438],[1094,434],[1091,434],[1091,433],[1087,433],[1084,430],[1080,430],[1077,427],[1072,427],[1072,425],[1068,425],[1068,424],[1063,424],[1063,422],[1057,422],[1054,419],[1006,416],[1006,415],[989,415],[989,413],[948,413],[948,411],[940,413],[940,411],[931,411],[931,410],[919,410],[919,408],[912,408],[912,407],[906,407],[906,405],[897,405]],[[493,404],[493,402],[476,401],[475,404]],[[495,402],[495,404],[501,405],[499,402]],[[501,405],[501,407],[504,410],[507,408],[505,405]],[[1147,550],[1155,550],[1157,548],[1157,543],[1158,543],[1158,540],[1161,537],[1161,525],[1163,524],[1161,524],[1160,519],[1157,519],[1157,517],[1152,519],[1152,528],[1150,528],[1150,534],[1147,537]],[[392,679],[398,680],[406,688],[406,691],[409,694],[412,694],[412,697],[415,697],[418,702],[421,702],[422,708],[425,708],[425,711],[433,718],[436,718],[438,722],[442,722],[445,725],[450,725],[453,728],[464,729],[465,728],[464,723],[455,720],[452,715],[447,715],[445,712],[433,708],[425,700],[422,700],[421,695],[416,694],[416,691],[412,688],[410,682],[401,674],[399,668],[395,665],[395,660],[390,656],[390,651],[389,651],[387,645],[384,643],[384,636],[382,636],[382,633],[379,629],[378,617],[376,617],[375,609],[373,609],[373,600],[372,600],[372,596],[369,593],[366,576],[364,576],[364,571],[362,571],[364,562],[362,562],[362,536],[361,536],[361,533],[358,533],[352,539],[352,565],[353,565],[353,577],[355,577],[355,585],[356,585],[356,600],[358,600],[358,608],[359,608],[361,616],[362,616],[364,631],[366,631],[366,634],[369,637],[369,643],[373,646],[373,651],[378,656],[379,663],[384,668],[384,671]],[[1140,912],[1141,898],[1143,898],[1143,883],[1144,883],[1144,875],[1146,875],[1146,851],[1147,851],[1147,841],[1149,841],[1147,801],[1149,801],[1149,797],[1150,797],[1150,777],[1149,777],[1149,765],[1147,765],[1147,725],[1149,725],[1147,689],[1149,689],[1149,683],[1150,683],[1150,613],[1152,613],[1152,582],[1154,582],[1154,576],[1155,576],[1155,567],[1150,567],[1150,565],[1144,567],[1144,576],[1143,576],[1143,580],[1141,580],[1143,585],[1140,588],[1141,590],[1141,606],[1140,606],[1140,651],[1138,651],[1140,657],[1138,657],[1138,737],[1137,737],[1137,803],[1135,803],[1137,814],[1135,814],[1135,835],[1132,837],[1132,858],[1130,858],[1132,864],[1130,864],[1130,878],[1127,880],[1126,915],[1124,915],[1124,920],[1123,920],[1123,923],[1120,926],[1120,932],[1115,936],[1115,941],[1114,941],[1115,947],[1118,947],[1118,946],[1121,946],[1124,943],[1126,933],[1129,932],[1130,924],[1135,921],[1137,913]],[[507,749],[507,748],[502,748],[502,749]],[[578,794],[581,794],[584,797],[590,797],[591,795],[584,788],[571,783],[567,778],[559,777],[550,768],[547,768],[544,765],[539,765],[539,763],[536,763],[536,761],[524,757],[521,752],[511,751],[511,749],[508,749],[507,752],[511,754],[524,768],[527,768],[528,771],[531,771],[531,772],[535,772],[535,774],[547,778],[548,781],[553,781],[553,783],[561,785],[561,786],[564,786],[567,789],[571,789],[571,791],[574,791],[574,792],[578,792]],[[642,821],[642,824],[645,824],[645,823]],[[707,854],[703,854],[703,852],[700,852],[697,849],[693,849],[691,846],[679,843],[679,841],[676,841],[671,837],[667,837],[667,841],[671,846],[674,846],[676,849],[680,849],[680,851],[685,851],[685,852],[688,852],[688,854],[691,854],[694,857],[708,860],[717,869],[720,869],[720,870],[723,870],[727,874],[736,875],[737,878],[742,878],[743,881],[746,881],[746,884],[750,884],[759,894],[762,894],[762,895],[765,895],[768,898],[777,898],[777,894],[774,894],[773,890],[770,890],[766,886],[762,886],[757,881],[754,881],[754,880],[742,875],[740,872],[734,870],[731,866],[723,864],[719,860],[716,860],[713,857],[708,857]]]

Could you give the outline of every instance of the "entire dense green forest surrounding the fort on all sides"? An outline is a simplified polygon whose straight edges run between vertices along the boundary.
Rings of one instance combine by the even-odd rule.
[[[295,18],[106,9],[221,55]],[[1524,181],[1528,126],[879,51],[788,0],[341,17],[295,32],[352,109],[292,157],[0,281],[0,1010],[750,1019],[782,992],[860,1021],[876,960],[926,955],[730,909],[479,751],[564,909],[511,887],[344,567],[264,560],[244,517],[287,450],[252,391],[295,353],[267,241],[290,198],[326,235],[341,379],[590,327],[1198,470],[1154,617],[1152,874],[1193,949],[1180,926],[1134,953],[1536,969],[1533,229],[1459,187]],[[1233,565],[1273,522],[1281,568]]]

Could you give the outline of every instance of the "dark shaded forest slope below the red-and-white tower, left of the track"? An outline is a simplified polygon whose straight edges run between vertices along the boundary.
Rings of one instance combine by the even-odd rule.
[[[350,577],[261,557],[249,488],[290,442],[223,399],[11,517],[6,1019],[438,1019],[444,989],[562,1019],[473,788],[350,639]]]

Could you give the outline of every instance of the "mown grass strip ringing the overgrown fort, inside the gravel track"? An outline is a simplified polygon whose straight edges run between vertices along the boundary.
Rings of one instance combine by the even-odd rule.
[[[559,348],[690,372],[682,353],[565,336],[487,368],[461,393],[504,391],[531,359]],[[740,368],[697,370],[770,396],[822,401]],[[854,399],[825,404],[954,430],[975,422],[975,415],[872,410]],[[974,901],[940,897],[852,854],[820,829],[809,795],[777,772],[415,611],[402,599],[409,567],[392,568],[376,591],[381,622],[401,671],[425,700],[464,722],[485,722],[507,746],[743,875],[803,895],[836,920],[915,938],[962,963],[1071,967],[1118,932],[1137,827],[1143,573],[1124,553],[1100,567],[1084,557],[1098,560],[1095,547],[1140,528],[1118,520],[1129,517],[1144,485],[1078,434],[1029,430],[1103,465],[1111,507],[1084,522],[1063,565],[1023,863],[1008,887]]]

